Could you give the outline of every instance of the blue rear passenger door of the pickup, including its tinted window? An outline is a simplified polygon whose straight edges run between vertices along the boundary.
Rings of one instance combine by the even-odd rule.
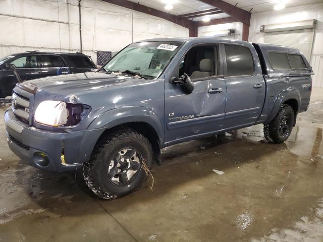
[[[253,125],[260,116],[266,90],[258,56],[250,43],[228,42],[222,48],[227,86],[225,128]]]

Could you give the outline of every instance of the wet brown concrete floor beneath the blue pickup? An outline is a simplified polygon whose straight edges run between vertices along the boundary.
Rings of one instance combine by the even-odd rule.
[[[297,119],[281,145],[259,125],[164,149],[153,192],[103,201],[19,160],[1,118],[0,241],[323,241],[323,89]]]

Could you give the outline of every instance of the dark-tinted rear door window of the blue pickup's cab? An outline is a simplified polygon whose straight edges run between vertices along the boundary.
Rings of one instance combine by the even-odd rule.
[[[250,76],[254,73],[250,49],[243,45],[225,44],[227,76]]]

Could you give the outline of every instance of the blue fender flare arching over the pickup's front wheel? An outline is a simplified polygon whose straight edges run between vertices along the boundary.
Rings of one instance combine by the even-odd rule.
[[[163,144],[163,126],[157,115],[147,107],[126,106],[107,110],[98,115],[89,125],[89,130],[111,129],[118,125],[143,122],[150,125],[157,134],[160,144]]]

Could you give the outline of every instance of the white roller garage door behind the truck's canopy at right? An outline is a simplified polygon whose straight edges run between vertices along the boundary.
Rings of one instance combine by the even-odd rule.
[[[314,29],[267,32],[264,42],[267,44],[298,48],[309,62],[312,52],[313,36]]]

